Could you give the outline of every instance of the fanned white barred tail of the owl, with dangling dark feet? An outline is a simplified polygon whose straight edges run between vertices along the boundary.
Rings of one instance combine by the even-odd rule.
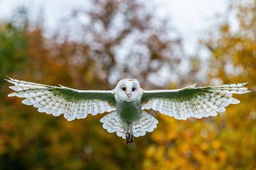
[[[127,144],[132,144],[134,137],[144,136],[146,132],[152,132],[156,128],[158,120],[146,111],[142,111],[142,116],[136,122],[123,122],[116,111],[105,115],[100,119],[103,128],[107,132],[116,132],[117,136],[127,140]]]

